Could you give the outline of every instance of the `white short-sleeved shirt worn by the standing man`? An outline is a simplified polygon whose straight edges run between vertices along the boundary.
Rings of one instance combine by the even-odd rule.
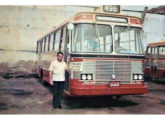
[[[53,81],[65,81],[65,70],[68,70],[65,62],[52,61],[49,70],[53,72]]]

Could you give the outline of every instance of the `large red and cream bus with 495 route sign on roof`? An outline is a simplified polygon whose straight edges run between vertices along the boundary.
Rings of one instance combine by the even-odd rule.
[[[145,94],[142,22],[120,6],[78,13],[37,41],[37,74],[50,82],[48,67],[64,53],[68,96]]]

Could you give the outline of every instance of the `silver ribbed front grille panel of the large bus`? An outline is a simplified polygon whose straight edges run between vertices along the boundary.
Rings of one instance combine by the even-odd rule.
[[[84,61],[83,71],[94,74],[96,84],[112,81],[112,75],[115,75],[116,80],[121,81],[121,84],[129,84],[133,73],[142,73],[142,63],[138,61]]]

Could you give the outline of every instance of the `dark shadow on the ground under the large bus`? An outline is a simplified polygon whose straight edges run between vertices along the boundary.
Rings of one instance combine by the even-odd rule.
[[[97,96],[97,97],[64,97],[64,103],[69,109],[79,108],[102,108],[108,107],[129,107],[136,106],[138,103],[125,100],[113,99],[111,96]]]

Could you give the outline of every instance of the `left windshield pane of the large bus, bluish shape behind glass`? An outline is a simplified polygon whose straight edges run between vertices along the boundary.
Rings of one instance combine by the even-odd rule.
[[[101,24],[76,24],[72,41],[72,52],[111,53],[111,26]]]

